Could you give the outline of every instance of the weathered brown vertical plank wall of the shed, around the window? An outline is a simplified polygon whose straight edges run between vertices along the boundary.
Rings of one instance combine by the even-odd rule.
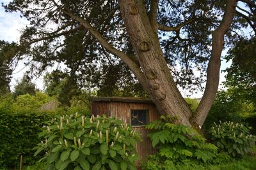
[[[160,114],[156,110],[154,104],[148,103],[125,103],[125,102],[114,102],[114,101],[93,101],[92,102],[92,114],[102,115],[105,114],[107,117],[115,116],[126,120],[127,123],[131,124],[131,110],[148,110],[149,122],[159,118]],[[143,142],[137,143],[136,150],[141,159],[147,155],[156,153],[156,149],[152,147],[150,139],[148,139],[148,131],[144,127],[133,127],[134,130],[140,132]]]

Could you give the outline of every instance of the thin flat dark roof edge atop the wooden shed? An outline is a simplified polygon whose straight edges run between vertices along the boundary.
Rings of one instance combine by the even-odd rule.
[[[124,102],[124,103],[149,103],[154,104],[152,100],[145,99],[142,97],[89,97],[90,101],[116,101],[116,102]]]

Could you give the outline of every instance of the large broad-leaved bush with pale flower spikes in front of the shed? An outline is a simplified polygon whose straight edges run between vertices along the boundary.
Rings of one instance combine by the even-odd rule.
[[[39,134],[45,140],[35,155],[46,152],[49,169],[136,169],[140,135],[116,118],[65,115],[53,118]]]

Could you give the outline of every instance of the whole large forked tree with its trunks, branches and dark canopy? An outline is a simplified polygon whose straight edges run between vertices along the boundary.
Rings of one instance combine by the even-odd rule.
[[[254,1],[241,2],[255,11]],[[195,127],[204,124],[216,96],[224,38],[226,45],[232,45],[237,34],[229,30],[247,27],[244,20],[252,23],[252,17],[236,15],[236,9],[244,10],[236,0],[26,0],[13,1],[5,8],[20,11],[31,22],[20,37],[20,46],[34,61],[32,67],[38,62],[39,69],[66,62],[77,74],[89,75],[87,71],[93,74],[100,64],[123,62],[160,113]],[[72,48],[68,42],[76,34],[81,35],[77,55],[61,55],[63,49]],[[202,82],[193,75],[193,67],[202,76],[207,70],[204,96],[195,113],[176,85],[191,87]]]

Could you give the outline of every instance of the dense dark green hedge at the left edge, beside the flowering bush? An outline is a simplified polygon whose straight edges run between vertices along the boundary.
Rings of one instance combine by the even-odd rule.
[[[52,115],[36,113],[4,113],[0,110],[0,169],[19,167],[20,155],[24,165],[34,164],[33,146],[39,142],[42,122]]]

